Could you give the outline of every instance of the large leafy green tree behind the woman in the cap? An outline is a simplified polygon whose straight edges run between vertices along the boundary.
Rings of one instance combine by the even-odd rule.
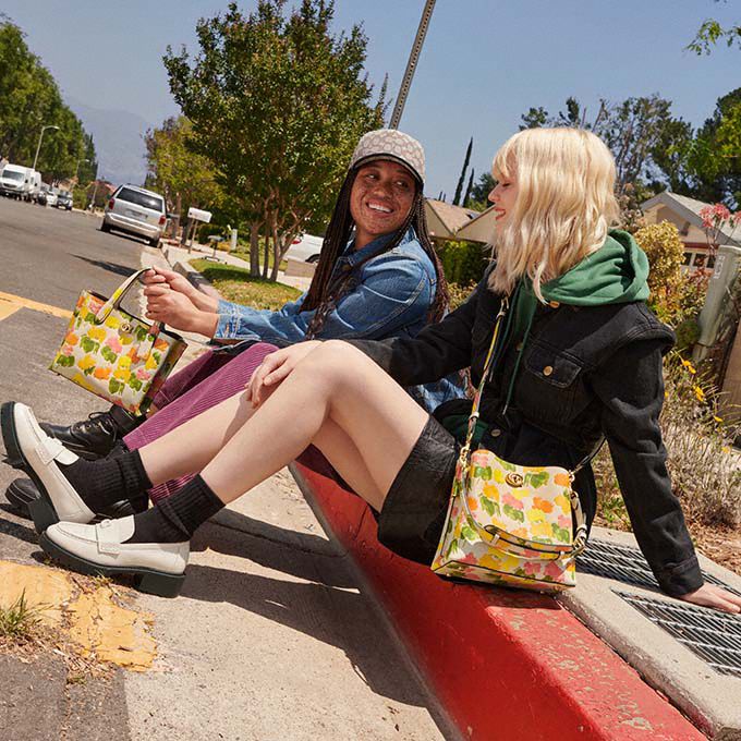
[[[360,26],[329,31],[331,0],[259,0],[248,16],[236,3],[196,26],[201,52],[163,58],[170,89],[192,123],[193,150],[216,165],[216,180],[280,259],[296,233],[331,212],[359,137],[381,125],[363,72],[367,39]],[[267,274],[267,260],[263,267]]]

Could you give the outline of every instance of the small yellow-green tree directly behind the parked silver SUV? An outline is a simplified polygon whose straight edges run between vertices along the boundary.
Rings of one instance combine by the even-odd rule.
[[[224,197],[214,162],[192,150],[192,129],[185,117],[173,117],[144,136],[147,182],[162,193],[168,211],[179,216],[191,206],[211,210]]]

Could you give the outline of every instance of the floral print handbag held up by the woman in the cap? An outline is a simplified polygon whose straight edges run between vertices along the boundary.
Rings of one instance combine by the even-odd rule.
[[[73,384],[132,414],[144,414],[187,347],[162,324],[149,324],[121,308],[134,282],[127,278],[106,300],[80,294],[62,347],[49,366]]]

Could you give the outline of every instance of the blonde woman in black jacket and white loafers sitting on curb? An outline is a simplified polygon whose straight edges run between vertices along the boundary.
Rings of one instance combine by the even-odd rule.
[[[381,543],[429,563],[471,402],[447,402],[430,416],[403,387],[469,366],[477,384],[507,297],[501,362],[484,392],[478,445],[524,465],[572,467],[607,438],[660,587],[740,611],[740,597],[703,583],[671,491],[658,414],[661,357],[673,336],[645,306],[645,255],[630,234],[610,231],[618,208],[609,150],[585,131],[524,131],[497,153],[493,174],[497,258],[461,307],[416,339],[279,350],[243,393],[114,461],[61,452],[52,469],[39,462],[51,482],[47,506],[77,520],[51,525],[41,536],[45,550],[73,569],[133,572],[141,588],[174,594],[194,531],[313,444],[378,512]],[[12,416],[22,448],[53,452],[29,410],[16,405]],[[81,524],[106,497],[193,472],[199,474],[181,491],[144,513]],[[591,522],[588,466],[574,488]]]

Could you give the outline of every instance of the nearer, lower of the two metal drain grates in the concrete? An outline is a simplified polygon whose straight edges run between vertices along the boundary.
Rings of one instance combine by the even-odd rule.
[[[623,592],[616,594],[715,671],[741,679],[741,620],[737,616]]]

